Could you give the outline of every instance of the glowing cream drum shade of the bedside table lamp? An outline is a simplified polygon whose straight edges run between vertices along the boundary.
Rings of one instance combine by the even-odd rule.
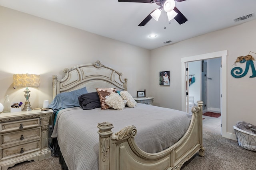
[[[40,86],[40,75],[28,74],[28,73],[13,75],[14,88],[39,87],[39,86]]]

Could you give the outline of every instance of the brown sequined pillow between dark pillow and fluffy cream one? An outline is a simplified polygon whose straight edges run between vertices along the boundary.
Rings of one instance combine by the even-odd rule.
[[[101,109],[102,110],[109,109],[110,107],[105,102],[106,96],[109,96],[110,93],[112,92],[116,93],[117,89],[116,88],[96,88],[96,90],[100,98]]]

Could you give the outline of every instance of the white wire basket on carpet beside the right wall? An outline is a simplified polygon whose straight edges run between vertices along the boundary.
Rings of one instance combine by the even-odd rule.
[[[256,151],[256,134],[243,131],[233,126],[238,145],[244,149]]]

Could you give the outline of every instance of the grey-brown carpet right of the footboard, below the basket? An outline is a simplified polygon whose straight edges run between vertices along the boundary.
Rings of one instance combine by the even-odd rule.
[[[242,149],[237,141],[204,131],[204,157],[194,155],[181,170],[255,170],[256,152]]]

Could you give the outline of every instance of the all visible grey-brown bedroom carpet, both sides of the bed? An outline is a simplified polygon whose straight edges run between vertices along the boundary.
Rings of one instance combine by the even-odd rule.
[[[194,155],[181,170],[255,170],[256,152],[242,149],[234,140],[204,131],[204,157]],[[61,170],[58,157],[17,164],[8,170]]]

